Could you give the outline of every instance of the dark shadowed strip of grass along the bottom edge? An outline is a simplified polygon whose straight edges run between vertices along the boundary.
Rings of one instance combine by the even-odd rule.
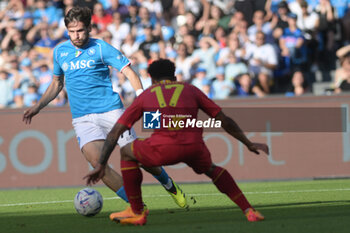
[[[325,232],[345,233],[350,229],[350,201],[299,202],[256,206],[266,217],[258,223],[249,223],[233,205],[151,210],[143,227],[120,226],[109,221],[107,212],[95,217],[76,213],[55,214],[27,212],[0,215],[2,233],[219,233],[219,232]]]

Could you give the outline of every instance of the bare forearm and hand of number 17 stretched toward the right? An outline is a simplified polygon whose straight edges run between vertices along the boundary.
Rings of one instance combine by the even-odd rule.
[[[244,145],[247,146],[247,148],[256,153],[260,154],[259,151],[265,152],[267,155],[269,154],[269,148],[264,143],[256,143],[251,142],[244,134],[242,129],[238,126],[238,124],[230,117],[226,116],[222,111],[220,111],[216,115],[216,120],[221,121],[222,128],[229,133],[232,137],[236,138],[240,142],[242,142]]]

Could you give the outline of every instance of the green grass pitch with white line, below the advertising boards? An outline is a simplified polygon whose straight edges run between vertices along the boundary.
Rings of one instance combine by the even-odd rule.
[[[350,232],[350,179],[239,183],[266,220],[248,222],[240,209],[212,184],[182,184],[191,208],[177,208],[160,185],[144,185],[150,209],[145,226],[121,226],[108,219],[126,204],[105,187],[95,187],[104,206],[95,217],[76,213],[73,199],[82,187],[0,191],[1,233],[342,233]]]

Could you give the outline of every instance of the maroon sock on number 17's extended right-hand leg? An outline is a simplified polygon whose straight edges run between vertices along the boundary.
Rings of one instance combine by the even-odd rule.
[[[252,208],[248,200],[237,186],[235,180],[230,173],[222,167],[215,167],[214,171],[210,174],[215,186],[220,192],[226,194],[239,208],[244,212],[248,208]]]

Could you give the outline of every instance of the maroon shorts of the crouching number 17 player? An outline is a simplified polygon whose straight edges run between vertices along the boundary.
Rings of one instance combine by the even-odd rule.
[[[185,145],[151,145],[147,138],[136,139],[131,147],[137,160],[145,167],[183,162],[196,173],[202,174],[207,172],[212,164],[210,152],[204,142]]]

